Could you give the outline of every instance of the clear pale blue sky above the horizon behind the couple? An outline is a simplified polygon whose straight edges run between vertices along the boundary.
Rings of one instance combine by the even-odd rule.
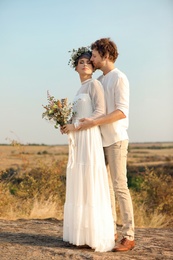
[[[102,37],[130,82],[129,141],[173,141],[172,0],[0,0],[0,144],[67,144],[42,105],[73,101],[69,51]]]

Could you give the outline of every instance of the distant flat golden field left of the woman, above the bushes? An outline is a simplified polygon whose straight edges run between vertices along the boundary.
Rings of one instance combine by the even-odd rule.
[[[0,171],[7,168],[30,170],[42,162],[50,166],[53,160],[67,159],[68,146],[0,145]]]

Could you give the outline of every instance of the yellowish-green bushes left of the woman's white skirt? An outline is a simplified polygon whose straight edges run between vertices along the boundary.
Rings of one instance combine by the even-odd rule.
[[[21,173],[12,168],[1,174],[1,181],[10,194],[19,199],[58,197],[64,202],[66,161],[56,161],[51,167],[40,165]]]

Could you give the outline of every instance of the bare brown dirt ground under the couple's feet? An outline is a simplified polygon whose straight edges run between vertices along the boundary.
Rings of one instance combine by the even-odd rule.
[[[0,259],[173,259],[173,229],[136,228],[136,247],[132,251],[98,253],[63,242],[62,224],[56,219],[0,220]],[[120,227],[118,230],[120,237]]]

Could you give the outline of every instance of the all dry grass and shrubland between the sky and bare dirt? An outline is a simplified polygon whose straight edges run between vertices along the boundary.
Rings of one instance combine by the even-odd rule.
[[[0,145],[0,219],[62,219],[67,159],[67,145]],[[173,226],[173,143],[130,143],[128,178],[136,226]]]

